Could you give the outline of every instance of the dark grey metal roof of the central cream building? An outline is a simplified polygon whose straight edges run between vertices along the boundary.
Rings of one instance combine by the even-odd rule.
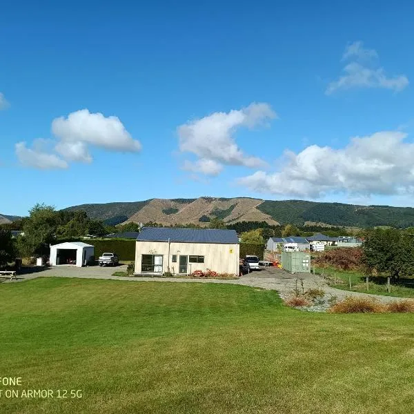
[[[239,238],[235,230],[216,228],[167,228],[143,227],[137,241],[145,242],[187,242],[236,244]]]

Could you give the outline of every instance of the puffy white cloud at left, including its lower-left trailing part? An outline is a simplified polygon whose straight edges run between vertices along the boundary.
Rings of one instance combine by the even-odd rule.
[[[30,150],[26,148],[26,144],[16,147],[21,164],[33,168],[67,168],[68,161],[90,163],[92,156],[89,146],[121,152],[141,150],[139,141],[132,139],[118,117],[105,117],[99,112],[91,113],[87,109],[72,112],[68,117],[54,119],[52,134],[55,136],[52,141],[54,148],[49,152],[39,148]],[[38,145],[39,140],[34,141],[34,146]],[[28,155],[33,156],[36,161],[30,161]]]

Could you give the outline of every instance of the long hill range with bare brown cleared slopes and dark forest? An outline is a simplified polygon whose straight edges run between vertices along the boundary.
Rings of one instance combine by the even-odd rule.
[[[66,210],[85,210],[108,224],[126,221],[154,221],[165,226],[175,224],[208,225],[217,217],[226,223],[266,221],[268,224],[318,223],[331,226],[414,226],[414,208],[391,206],[358,206],[341,203],[319,203],[304,200],[262,200],[248,197],[197,199],[149,199],[128,203],[82,204]]]

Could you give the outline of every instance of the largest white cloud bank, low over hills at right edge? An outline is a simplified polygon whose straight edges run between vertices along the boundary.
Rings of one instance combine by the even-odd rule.
[[[348,146],[308,146],[286,151],[279,172],[257,171],[238,180],[259,193],[318,198],[328,193],[395,195],[414,193],[414,144],[400,131],[354,137]]]

